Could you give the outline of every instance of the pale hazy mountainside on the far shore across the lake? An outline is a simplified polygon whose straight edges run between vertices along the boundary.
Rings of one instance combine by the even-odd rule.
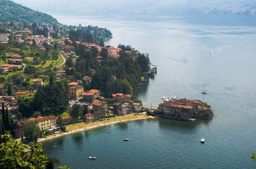
[[[14,0],[54,15],[134,13],[236,13],[256,14],[255,0]]]

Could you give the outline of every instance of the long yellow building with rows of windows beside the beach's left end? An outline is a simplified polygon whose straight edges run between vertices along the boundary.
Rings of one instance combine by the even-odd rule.
[[[49,115],[45,117],[30,118],[29,121],[37,121],[41,130],[56,128],[56,117]]]

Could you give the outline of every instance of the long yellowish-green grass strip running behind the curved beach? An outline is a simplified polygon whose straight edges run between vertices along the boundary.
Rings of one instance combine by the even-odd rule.
[[[89,122],[89,123],[77,123],[77,124],[70,124],[67,126],[66,131],[73,131],[76,129],[83,129],[83,128],[88,128],[92,126],[97,126],[99,124],[105,124],[107,122],[116,122],[116,121],[127,121],[127,120],[132,120],[132,119],[143,119],[143,118],[148,118],[146,114],[139,114],[139,115],[123,115],[123,116],[118,116],[118,117],[111,117],[106,121],[96,121],[96,122]]]

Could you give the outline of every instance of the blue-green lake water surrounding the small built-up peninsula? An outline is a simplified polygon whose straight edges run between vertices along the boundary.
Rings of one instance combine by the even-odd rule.
[[[55,17],[107,27],[113,33],[108,45],[148,53],[157,75],[135,93],[145,106],[157,108],[163,96],[175,94],[206,101],[214,117],[92,129],[44,142],[47,155],[71,168],[256,168],[250,159],[256,152],[255,16]],[[88,159],[92,154],[95,161]]]

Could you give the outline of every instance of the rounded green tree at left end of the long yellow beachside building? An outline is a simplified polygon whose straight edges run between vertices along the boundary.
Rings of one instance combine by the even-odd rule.
[[[41,133],[40,128],[35,121],[24,122],[23,131],[29,142],[37,142],[37,138]]]

